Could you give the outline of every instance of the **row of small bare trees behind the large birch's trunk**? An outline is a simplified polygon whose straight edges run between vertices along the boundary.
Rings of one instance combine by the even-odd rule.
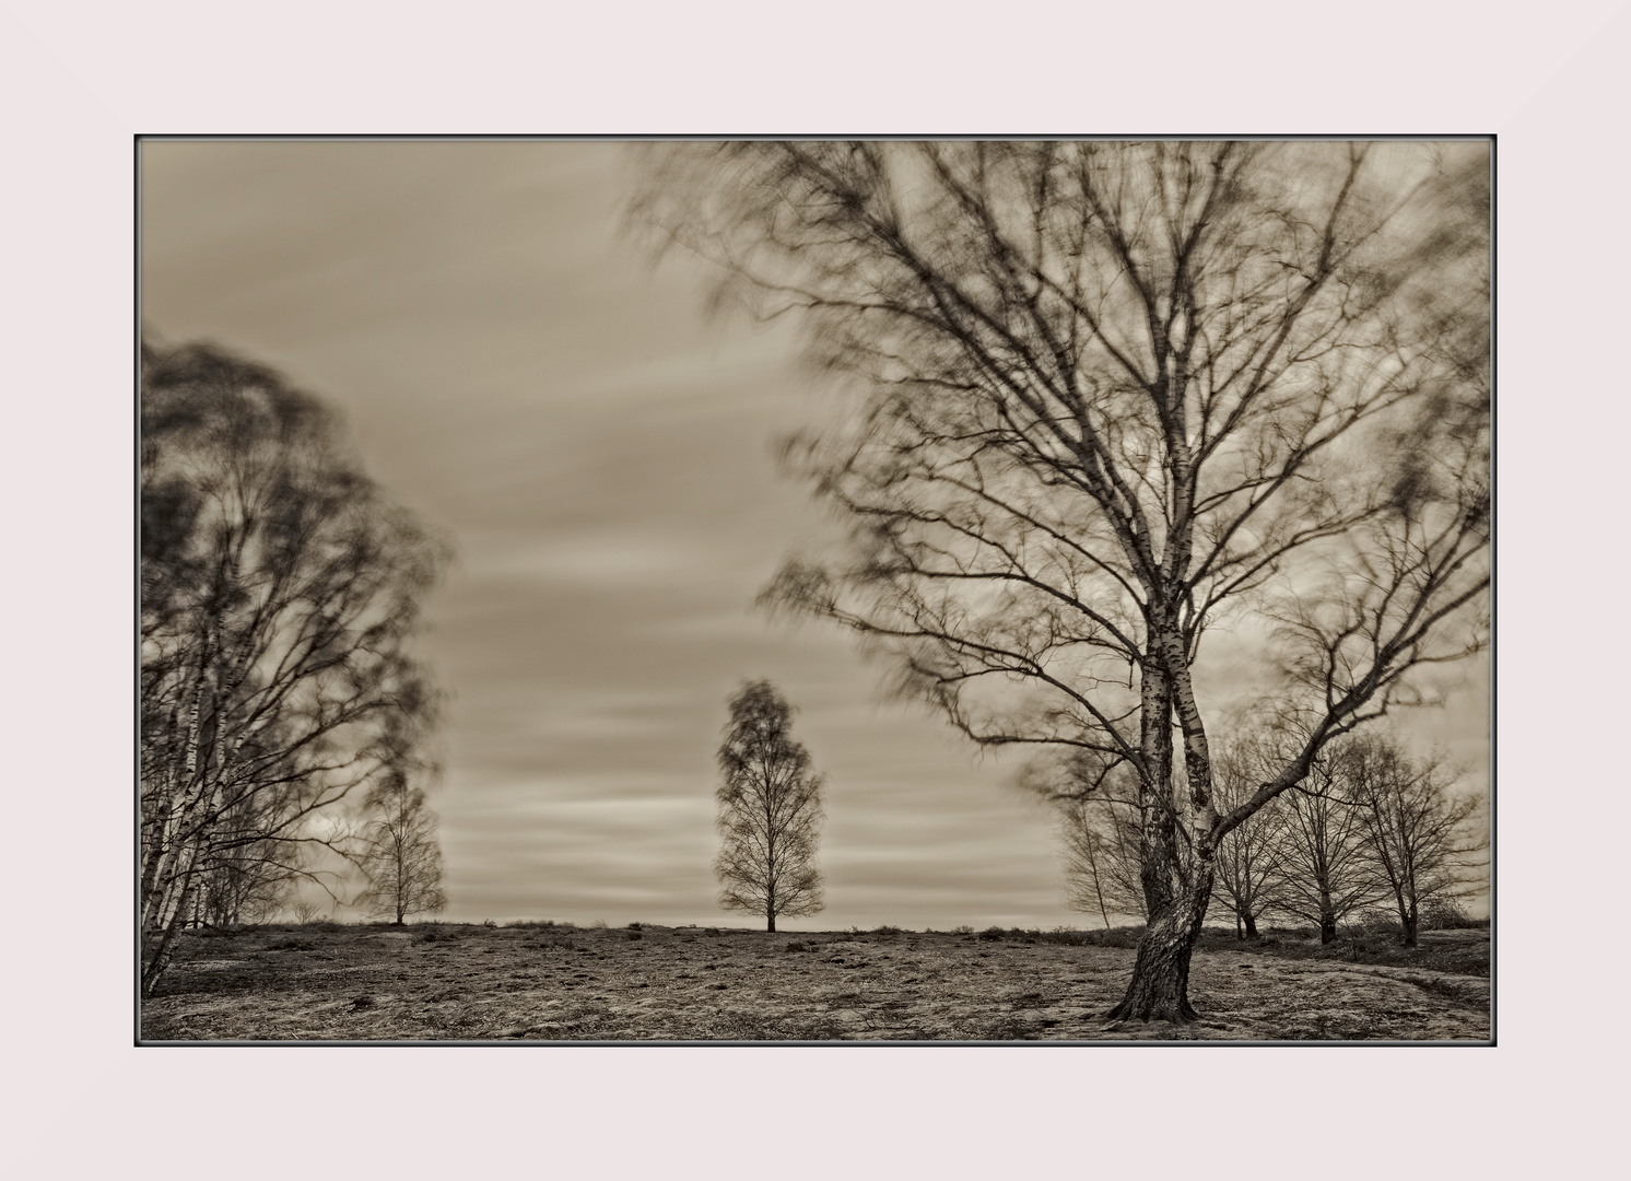
[[[1225,747],[1213,763],[1220,798],[1248,796],[1292,741],[1258,729]],[[1068,904],[1106,927],[1112,915],[1145,920],[1135,794],[1085,791],[1065,770],[1054,781],[1032,772],[1028,786],[1059,809]],[[1275,918],[1331,943],[1339,923],[1386,913],[1416,946],[1424,920],[1458,912],[1486,884],[1486,821],[1484,796],[1458,791],[1442,759],[1414,757],[1388,732],[1349,737],[1218,843],[1218,902],[1244,938]]]

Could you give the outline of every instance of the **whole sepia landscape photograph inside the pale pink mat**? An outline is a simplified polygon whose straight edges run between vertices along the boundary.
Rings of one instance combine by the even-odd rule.
[[[1496,1044],[1492,137],[134,150],[140,1046]]]

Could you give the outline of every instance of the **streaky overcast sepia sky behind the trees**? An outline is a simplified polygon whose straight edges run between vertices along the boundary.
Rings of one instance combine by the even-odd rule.
[[[829,776],[827,910],[791,930],[1094,922],[1016,763],[882,697],[845,635],[754,597],[827,525],[773,439],[817,413],[783,330],[709,325],[700,271],[617,238],[610,144],[142,147],[142,316],[344,409],[458,553],[427,652],[447,918],[729,922],[724,700],[770,677]],[[1487,679],[1408,719],[1487,776]]]

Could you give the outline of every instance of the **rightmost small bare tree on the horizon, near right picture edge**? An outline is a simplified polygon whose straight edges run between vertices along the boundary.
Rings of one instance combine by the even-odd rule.
[[[1487,881],[1484,798],[1453,791],[1455,776],[1440,759],[1412,759],[1380,734],[1355,742],[1350,776],[1372,858],[1398,909],[1401,941],[1414,948],[1424,910]]]

